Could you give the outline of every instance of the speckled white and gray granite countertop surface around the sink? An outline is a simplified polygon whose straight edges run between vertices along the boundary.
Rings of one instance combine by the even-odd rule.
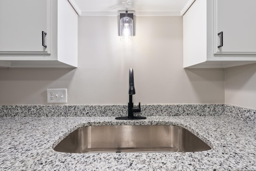
[[[182,126],[212,149],[188,153],[60,153],[53,147],[86,125]],[[256,128],[226,116],[0,118],[0,170],[256,170]]]

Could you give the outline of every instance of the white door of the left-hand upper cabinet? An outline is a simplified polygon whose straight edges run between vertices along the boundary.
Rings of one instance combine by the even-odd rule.
[[[0,0],[0,53],[50,53],[48,0]],[[47,34],[43,45],[42,31]]]

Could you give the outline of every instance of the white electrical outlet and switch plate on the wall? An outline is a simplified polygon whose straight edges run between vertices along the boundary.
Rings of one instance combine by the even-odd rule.
[[[47,103],[68,103],[67,99],[67,89],[57,88],[47,89]]]

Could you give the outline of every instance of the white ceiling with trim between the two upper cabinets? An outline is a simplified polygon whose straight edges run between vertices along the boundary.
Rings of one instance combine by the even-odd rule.
[[[194,0],[68,0],[80,16],[182,16]],[[119,12],[118,12],[119,11]]]

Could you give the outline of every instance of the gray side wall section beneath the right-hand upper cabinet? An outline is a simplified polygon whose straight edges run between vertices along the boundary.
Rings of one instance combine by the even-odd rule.
[[[226,68],[225,102],[256,109],[256,64]]]

